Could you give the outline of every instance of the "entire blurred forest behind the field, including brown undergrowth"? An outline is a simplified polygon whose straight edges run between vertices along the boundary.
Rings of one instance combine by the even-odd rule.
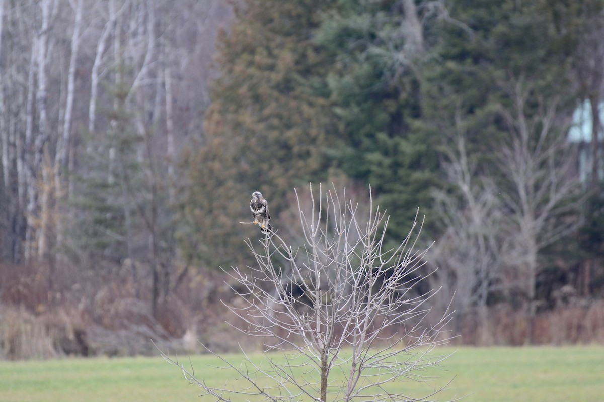
[[[601,0],[0,0],[0,357],[245,345],[219,267],[309,182],[393,243],[419,209],[455,342],[604,342],[602,37]]]

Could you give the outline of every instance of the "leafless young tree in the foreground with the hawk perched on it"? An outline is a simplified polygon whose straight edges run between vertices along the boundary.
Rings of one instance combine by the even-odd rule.
[[[312,187],[310,194],[310,210],[298,198],[301,247],[278,233],[267,234],[258,248],[248,240],[254,264],[231,271],[242,304],[231,310],[246,323],[243,331],[284,358],[267,354],[265,363],[246,358],[243,365],[223,359],[249,385],[233,389],[213,388],[162,356],[219,401],[233,394],[266,401],[423,401],[441,391],[431,387],[421,398],[388,392],[393,380],[425,381],[422,369],[445,358],[430,354],[447,341],[449,314],[427,324],[435,291],[417,292],[430,275],[423,272],[425,251],[415,250],[417,235],[412,230],[396,250],[387,250],[388,216],[379,208],[373,212],[370,205],[365,215],[335,187],[323,193],[320,186],[316,203]]]

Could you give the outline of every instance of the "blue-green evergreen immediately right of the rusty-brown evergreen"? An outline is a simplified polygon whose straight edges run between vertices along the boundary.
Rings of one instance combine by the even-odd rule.
[[[435,133],[416,124],[426,49],[414,22],[422,16],[405,3],[341,1],[316,34],[335,60],[327,83],[341,134],[332,157],[345,174],[371,184],[397,240],[418,208],[428,218],[425,229],[431,226],[438,183]]]

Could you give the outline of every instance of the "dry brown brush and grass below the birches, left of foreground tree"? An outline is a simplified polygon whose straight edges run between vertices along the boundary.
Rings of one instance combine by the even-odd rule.
[[[129,270],[113,269],[65,265],[51,280],[48,266],[0,266],[0,359],[152,354],[152,339],[171,350],[198,351],[199,339],[224,351],[240,341],[224,323],[220,300],[231,292],[222,275],[187,277],[154,317],[150,281],[137,284],[137,298]]]

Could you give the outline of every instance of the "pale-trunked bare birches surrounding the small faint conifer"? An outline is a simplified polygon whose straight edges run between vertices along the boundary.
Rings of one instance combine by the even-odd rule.
[[[106,181],[117,178],[120,145],[106,147],[117,86],[127,89],[126,127],[149,140],[150,153],[143,142],[137,145],[137,163],[149,166],[149,157],[156,159],[152,180],[157,189],[167,177],[178,177],[179,148],[202,135],[204,80],[213,51],[208,43],[225,18],[222,7],[220,0],[177,5],[163,0],[0,2],[2,258],[37,262],[59,251],[85,254],[75,249],[86,242],[74,238],[82,233],[77,230],[82,211],[71,209],[89,195],[82,181],[97,163],[95,152],[104,149],[103,158],[111,162],[102,169]],[[190,110],[187,115],[175,116],[177,102],[187,103],[181,108]],[[167,203],[174,199],[171,187],[166,200],[156,200],[158,221],[164,222]],[[135,227],[142,218],[132,208],[126,210]],[[135,253],[138,240],[122,239],[134,242],[130,250]]]

